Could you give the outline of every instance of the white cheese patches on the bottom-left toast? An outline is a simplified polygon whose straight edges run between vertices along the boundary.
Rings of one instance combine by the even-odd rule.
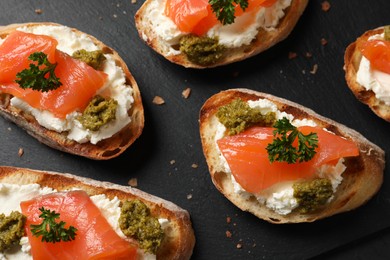
[[[41,187],[38,184],[16,185],[16,184],[1,184],[0,183],[0,214],[9,215],[12,211],[21,212],[20,202],[33,199],[34,197],[56,192],[48,187]],[[102,215],[107,219],[111,227],[116,233],[126,238],[119,227],[118,220],[121,214],[120,200],[114,197],[112,200],[106,197],[105,194],[94,195],[90,197],[92,202],[100,209]],[[168,228],[169,220],[159,219],[163,230]],[[20,246],[0,253],[0,260],[32,260],[31,246],[28,237],[23,237],[19,243]],[[156,255],[145,253],[143,250],[138,250],[140,259],[155,260]]]

